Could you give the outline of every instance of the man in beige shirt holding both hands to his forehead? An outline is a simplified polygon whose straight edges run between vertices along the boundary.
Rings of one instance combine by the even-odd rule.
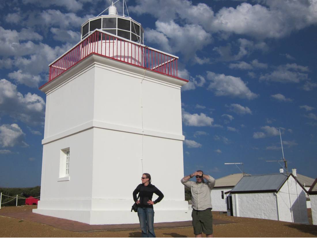
[[[194,176],[196,176],[196,182],[189,181]],[[207,183],[204,179],[207,180]],[[197,170],[182,178],[181,182],[191,189],[191,207],[193,208],[191,217],[193,218],[195,237],[203,237],[203,232],[207,237],[213,237],[210,192],[215,186],[215,179],[210,175],[204,175],[203,171]]]

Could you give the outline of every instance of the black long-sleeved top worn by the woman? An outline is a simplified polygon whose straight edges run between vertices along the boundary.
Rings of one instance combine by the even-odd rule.
[[[140,203],[138,204],[138,207],[140,207],[140,208],[153,208],[153,205],[147,203],[149,200],[152,201],[153,193],[155,193],[156,195],[159,196],[154,201],[154,204],[160,202],[164,197],[163,193],[152,184],[149,184],[147,186],[144,186],[143,183],[139,184],[138,187],[136,189],[134,189],[134,191],[133,191],[134,202],[138,201],[138,199],[137,199],[138,193],[140,195],[140,198],[139,198]]]

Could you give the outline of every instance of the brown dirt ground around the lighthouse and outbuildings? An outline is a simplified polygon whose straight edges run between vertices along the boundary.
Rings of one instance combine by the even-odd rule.
[[[6,216],[16,211],[29,212],[36,206],[2,207],[0,237],[140,237],[139,229],[73,232],[53,226]],[[308,209],[310,224],[311,211]],[[266,219],[231,217],[213,212],[214,219],[234,223],[214,225],[215,237],[317,237],[316,225],[302,225]],[[157,237],[194,237],[192,227],[156,228]]]

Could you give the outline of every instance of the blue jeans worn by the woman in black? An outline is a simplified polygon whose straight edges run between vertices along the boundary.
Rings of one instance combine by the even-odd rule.
[[[154,209],[138,208],[142,237],[156,237],[154,233]]]

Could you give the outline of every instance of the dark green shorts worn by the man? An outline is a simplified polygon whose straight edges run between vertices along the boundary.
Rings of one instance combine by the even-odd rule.
[[[212,230],[212,213],[211,208],[203,211],[194,210],[191,212],[191,217],[193,218],[194,234],[199,235],[205,233],[206,235],[211,235]]]

